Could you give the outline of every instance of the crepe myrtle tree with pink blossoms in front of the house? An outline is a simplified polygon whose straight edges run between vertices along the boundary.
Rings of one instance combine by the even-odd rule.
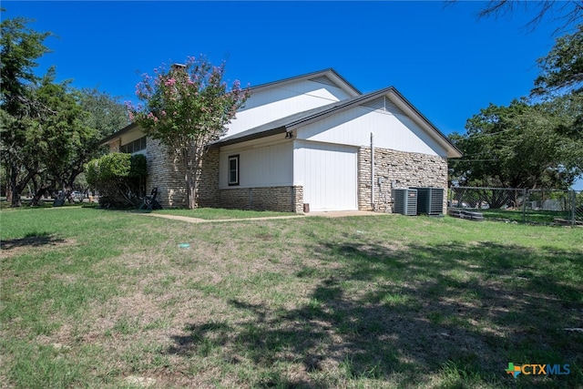
[[[197,207],[198,179],[207,146],[225,135],[227,125],[250,96],[249,87],[223,81],[225,62],[213,66],[201,56],[185,65],[158,67],[142,75],[136,96],[143,104],[127,102],[129,118],[149,138],[169,148],[184,169],[189,208]]]

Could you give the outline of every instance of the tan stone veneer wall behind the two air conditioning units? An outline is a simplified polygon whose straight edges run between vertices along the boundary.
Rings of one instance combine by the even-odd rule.
[[[393,211],[391,183],[395,188],[444,188],[447,204],[447,159],[388,148],[374,148],[374,205],[371,204],[371,148],[358,150],[358,209]],[[381,177],[383,183],[378,184]]]

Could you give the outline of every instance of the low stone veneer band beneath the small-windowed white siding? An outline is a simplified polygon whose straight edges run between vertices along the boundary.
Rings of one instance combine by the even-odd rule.
[[[302,213],[303,187],[220,189],[220,207]]]

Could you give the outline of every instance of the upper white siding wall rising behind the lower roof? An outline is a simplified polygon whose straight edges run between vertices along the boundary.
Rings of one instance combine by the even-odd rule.
[[[252,91],[226,136],[349,97],[340,87],[308,80]]]

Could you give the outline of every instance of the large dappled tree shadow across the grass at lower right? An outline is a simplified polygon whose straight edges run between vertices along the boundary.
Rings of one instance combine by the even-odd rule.
[[[491,242],[312,249],[316,260],[339,266],[296,272],[312,282],[308,302],[283,309],[232,299],[237,319],[192,324],[169,353],[248,361],[269,373],[257,386],[333,387],[342,379],[422,387],[436,375],[452,388],[583,380],[583,336],[565,331],[582,324],[580,251]],[[568,363],[571,374],[516,383],[505,373],[510,362]],[[286,376],[273,367],[281,363],[299,370]]]

